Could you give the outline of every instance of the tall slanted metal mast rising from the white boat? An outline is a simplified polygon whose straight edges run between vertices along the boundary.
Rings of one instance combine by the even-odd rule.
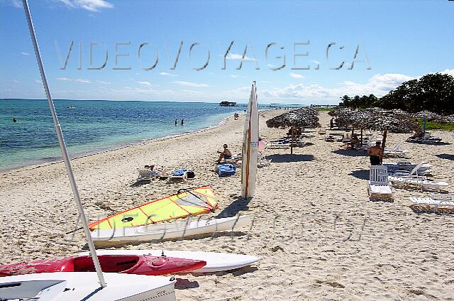
[[[68,157],[68,152],[66,149],[65,139],[63,138],[62,128],[58,123],[57,113],[55,113],[55,106],[52,101],[52,97],[50,96],[48,80],[45,77],[43,60],[41,60],[40,55],[40,48],[38,47],[38,41],[36,40],[35,29],[33,28],[33,21],[31,20],[31,13],[30,8],[28,7],[28,0],[22,0],[23,2],[23,9],[26,12],[26,18],[28,21],[28,29],[30,30],[31,41],[33,43],[33,48],[35,48],[35,55],[36,60],[38,61],[38,67],[40,68],[41,79],[43,80],[44,90],[46,97],[48,97],[49,109],[50,114],[52,115],[52,119],[54,121],[55,132],[57,133],[58,143],[60,144],[60,149],[62,151],[62,157],[65,161],[66,170],[68,173],[68,177],[70,178],[72,193],[74,194],[74,199],[76,200],[77,209],[79,209],[80,219],[82,220],[82,224],[84,226],[85,236],[88,241],[89,250],[93,259],[94,268],[96,273],[98,274],[99,284],[102,288],[106,287],[106,281],[104,280],[104,275],[101,270],[101,265],[99,264],[98,257],[96,256],[96,249],[94,248],[94,243],[92,240],[92,235],[90,234],[90,230],[87,224],[87,218],[85,217],[84,207],[82,207],[82,202],[79,196],[79,190],[77,190],[76,180],[74,179],[74,174],[72,173],[72,167],[70,158]]]

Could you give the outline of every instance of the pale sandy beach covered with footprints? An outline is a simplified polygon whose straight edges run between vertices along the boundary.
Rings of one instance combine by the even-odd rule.
[[[287,130],[265,121],[282,110],[260,112],[260,136]],[[320,114],[326,128],[331,119]],[[258,171],[255,197],[240,199],[240,173],[218,177],[216,151],[227,143],[240,153],[244,116],[199,133],[150,141],[72,160],[90,221],[174,194],[182,187],[212,185],[212,216],[251,214],[252,229],[231,235],[141,243],[123,248],[221,251],[260,256],[258,265],[211,275],[177,275],[177,300],[454,300],[453,214],[417,214],[411,196],[396,189],[394,202],[370,202],[369,158],[328,143],[313,131],[303,148],[265,150],[270,166]],[[432,131],[454,143],[454,133]],[[388,146],[409,134],[390,133]],[[413,163],[433,165],[437,180],[453,184],[453,145],[403,143]],[[392,161],[395,159],[389,159]],[[155,163],[167,170],[192,168],[182,183],[136,185],[136,168]],[[452,186],[449,188],[453,192]],[[85,246],[74,229],[77,207],[65,165],[35,165],[0,174],[0,263],[68,256]]]

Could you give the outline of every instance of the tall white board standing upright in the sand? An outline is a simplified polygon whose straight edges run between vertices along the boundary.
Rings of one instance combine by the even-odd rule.
[[[250,91],[243,131],[243,161],[241,163],[241,197],[254,197],[258,160],[258,102],[255,82]]]

